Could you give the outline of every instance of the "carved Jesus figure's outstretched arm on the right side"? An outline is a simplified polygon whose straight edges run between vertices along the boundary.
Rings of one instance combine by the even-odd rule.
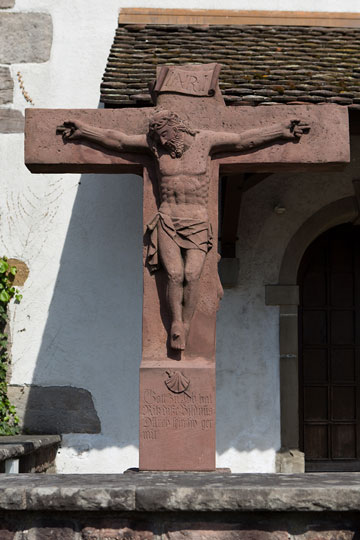
[[[211,136],[211,150],[213,152],[241,152],[277,140],[296,141],[309,131],[310,126],[308,124],[295,119],[281,124],[249,129],[243,133],[219,132]]]

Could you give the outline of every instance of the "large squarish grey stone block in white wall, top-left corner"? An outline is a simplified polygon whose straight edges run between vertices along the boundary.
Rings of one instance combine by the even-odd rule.
[[[47,13],[0,13],[0,63],[46,62],[52,20]]]

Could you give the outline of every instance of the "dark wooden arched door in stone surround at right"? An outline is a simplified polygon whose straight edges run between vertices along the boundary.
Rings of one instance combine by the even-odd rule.
[[[298,283],[300,447],[306,471],[360,471],[360,227],[330,229]]]

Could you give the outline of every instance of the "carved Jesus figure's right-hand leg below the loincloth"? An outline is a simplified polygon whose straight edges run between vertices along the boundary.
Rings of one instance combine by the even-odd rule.
[[[185,255],[185,285],[183,321],[185,334],[189,333],[191,319],[194,315],[199,297],[199,281],[204,266],[206,253],[198,249],[188,249]]]

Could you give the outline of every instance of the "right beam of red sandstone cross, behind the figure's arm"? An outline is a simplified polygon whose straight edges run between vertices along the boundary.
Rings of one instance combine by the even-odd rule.
[[[310,128],[301,137],[285,140],[279,137],[270,145],[267,137],[276,135],[279,124],[300,121]],[[214,128],[213,128],[214,129]],[[274,133],[272,133],[274,130]],[[221,131],[232,134],[258,132],[257,141],[264,144],[232,155],[215,154],[221,174],[237,172],[321,171],[342,169],[350,161],[349,119],[346,107],[325,105],[271,105],[258,107],[225,107]],[[221,137],[224,137],[220,134]],[[221,143],[220,137],[220,143]],[[229,142],[236,137],[228,136]],[[251,142],[251,141],[250,141]]]

